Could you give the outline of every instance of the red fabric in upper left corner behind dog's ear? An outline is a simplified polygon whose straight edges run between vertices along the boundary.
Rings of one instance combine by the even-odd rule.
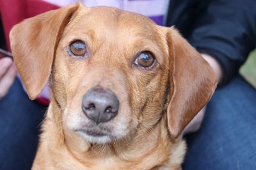
[[[58,6],[42,0],[0,0],[0,13],[8,50],[10,50],[9,33],[13,25],[25,18],[58,8]]]

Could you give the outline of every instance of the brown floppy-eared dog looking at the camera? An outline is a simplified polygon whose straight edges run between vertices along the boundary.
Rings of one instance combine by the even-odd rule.
[[[173,28],[109,7],[67,6],[10,34],[31,99],[51,83],[33,169],[179,169],[182,130],[216,77]]]

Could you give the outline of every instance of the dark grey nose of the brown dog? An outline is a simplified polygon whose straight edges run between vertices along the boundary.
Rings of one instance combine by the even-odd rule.
[[[99,124],[108,122],[118,113],[119,101],[113,92],[93,89],[82,99],[82,110],[86,117]]]

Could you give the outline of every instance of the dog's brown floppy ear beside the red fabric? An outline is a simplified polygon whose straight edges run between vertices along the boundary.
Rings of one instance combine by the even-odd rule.
[[[13,58],[30,99],[35,99],[47,83],[60,36],[78,7],[48,11],[12,28]]]

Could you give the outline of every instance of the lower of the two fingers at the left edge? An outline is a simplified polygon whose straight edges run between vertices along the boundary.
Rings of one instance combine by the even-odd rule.
[[[16,67],[14,64],[12,64],[12,66],[8,69],[8,71],[6,71],[0,80],[0,99],[7,94],[8,90],[12,86],[13,81],[15,80],[16,74]]]

